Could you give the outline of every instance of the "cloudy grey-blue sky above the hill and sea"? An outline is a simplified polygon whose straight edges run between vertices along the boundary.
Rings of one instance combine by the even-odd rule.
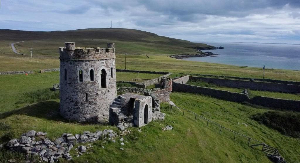
[[[1,0],[0,29],[107,28],[111,20],[189,41],[300,44],[300,0]]]

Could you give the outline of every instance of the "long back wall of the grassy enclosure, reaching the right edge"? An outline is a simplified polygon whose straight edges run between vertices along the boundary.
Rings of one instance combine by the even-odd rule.
[[[268,83],[261,81],[246,81],[236,79],[221,79],[221,78],[207,78],[190,76],[191,80],[201,80],[215,85],[230,87],[230,88],[248,88],[259,91],[273,91],[283,93],[299,93],[300,85]]]

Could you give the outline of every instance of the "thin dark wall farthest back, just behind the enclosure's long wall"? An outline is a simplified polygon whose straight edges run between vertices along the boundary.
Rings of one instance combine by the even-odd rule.
[[[214,77],[214,78],[233,78],[238,80],[251,80],[254,79],[255,81],[265,81],[271,83],[281,83],[281,84],[293,84],[293,85],[300,85],[300,82],[297,81],[285,81],[285,80],[275,80],[275,79],[260,79],[260,78],[242,78],[242,77],[235,77],[235,76],[219,76],[219,75],[204,75],[204,74],[190,74],[190,75],[200,75],[204,77]]]

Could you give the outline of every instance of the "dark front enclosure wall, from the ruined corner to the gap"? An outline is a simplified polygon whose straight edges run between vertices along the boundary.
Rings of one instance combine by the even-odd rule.
[[[249,100],[246,94],[217,90],[213,88],[198,87],[194,85],[180,84],[175,82],[173,82],[173,91],[203,94],[206,96],[233,102],[243,102]]]

